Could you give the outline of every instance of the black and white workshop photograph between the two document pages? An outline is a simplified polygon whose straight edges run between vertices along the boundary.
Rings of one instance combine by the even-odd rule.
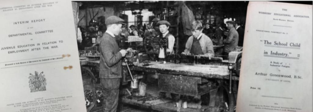
[[[73,4],[87,111],[235,111],[248,1]]]

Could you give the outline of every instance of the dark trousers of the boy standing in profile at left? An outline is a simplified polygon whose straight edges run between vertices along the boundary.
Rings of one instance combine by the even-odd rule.
[[[100,78],[103,87],[103,112],[116,112],[120,81],[120,78]]]

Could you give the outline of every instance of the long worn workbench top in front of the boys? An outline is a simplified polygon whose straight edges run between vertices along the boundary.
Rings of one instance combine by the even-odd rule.
[[[100,60],[90,60],[86,65],[100,66]],[[130,66],[131,70],[143,71],[143,72],[158,72],[164,74],[183,75],[190,77],[204,77],[204,78],[216,78],[216,79],[229,79],[228,66],[220,65],[202,65],[202,64],[175,64],[175,63],[162,63],[151,61],[149,66],[142,66],[139,63],[138,66]],[[232,80],[239,81],[238,76],[233,76]]]

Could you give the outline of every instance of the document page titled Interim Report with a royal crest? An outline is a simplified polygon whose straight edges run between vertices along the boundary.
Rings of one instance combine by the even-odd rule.
[[[0,3],[0,112],[86,112],[70,0]]]

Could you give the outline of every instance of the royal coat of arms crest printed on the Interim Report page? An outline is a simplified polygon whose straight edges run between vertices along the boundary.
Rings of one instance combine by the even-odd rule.
[[[44,76],[44,72],[41,72],[38,74],[37,71],[35,71],[35,75],[32,73],[29,73],[29,88],[30,92],[37,92],[37,91],[46,91],[46,78]]]

